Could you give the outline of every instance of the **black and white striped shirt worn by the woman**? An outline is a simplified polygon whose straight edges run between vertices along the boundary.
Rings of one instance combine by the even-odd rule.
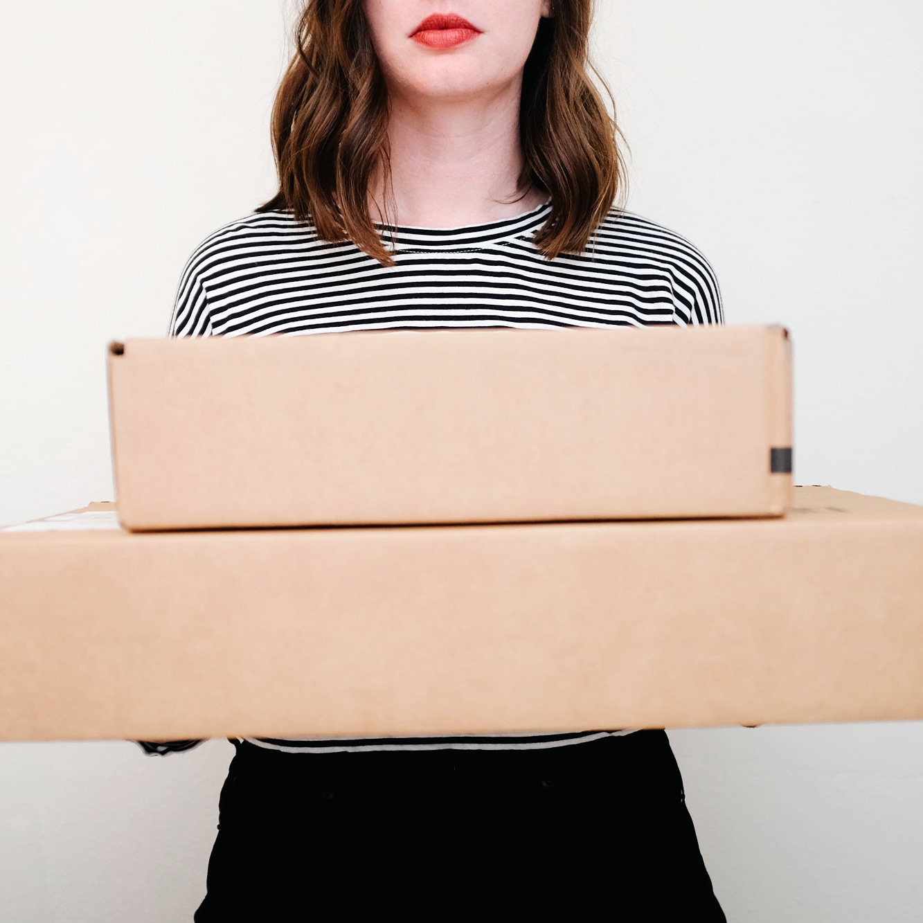
[[[395,265],[330,244],[281,211],[211,234],[189,259],[174,336],[299,335],[450,327],[603,327],[722,323],[712,268],[688,241],[610,211],[586,251],[548,260],[533,245],[550,204],[453,229],[380,229]],[[248,738],[269,749],[535,749],[623,731],[376,739]],[[150,745],[163,752],[191,742]]]

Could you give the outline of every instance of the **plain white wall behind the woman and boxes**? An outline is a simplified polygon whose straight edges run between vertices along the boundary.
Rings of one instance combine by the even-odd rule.
[[[5,9],[0,522],[112,497],[105,343],[162,335],[192,248],[273,191],[293,6]],[[923,5],[598,6],[629,207],[704,250],[731,322],[793,331],[797,480],[923,503]],[[923,919],[923,725],[671,737],[730,920]],[[230,754],[0,745],[0,919],[189,920]]]

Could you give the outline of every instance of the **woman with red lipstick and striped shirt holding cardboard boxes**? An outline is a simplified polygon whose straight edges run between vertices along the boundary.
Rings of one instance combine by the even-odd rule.
[[[614,205],[590,6],[308,0],[279,193],[198,248],[174,335],[721,322],[701,254]],[[235,746],[199,921],[725,918],[663,731]]]

